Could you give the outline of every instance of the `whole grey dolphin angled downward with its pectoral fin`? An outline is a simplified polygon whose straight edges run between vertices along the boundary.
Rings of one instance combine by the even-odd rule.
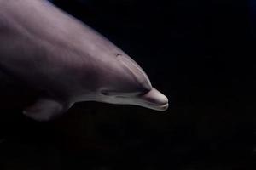
[[[23,111],[38,121],[81,101],[168,107],[134,60],[44,0],[0,0],[0,70],[44,92]]]

